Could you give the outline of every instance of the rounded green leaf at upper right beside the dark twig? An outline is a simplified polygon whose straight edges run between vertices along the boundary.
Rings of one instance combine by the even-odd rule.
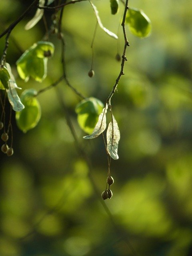
[[[134,36],[147,37],[151,32],[151,21],[142,10],[129,8],[126,13],[125,22]]]

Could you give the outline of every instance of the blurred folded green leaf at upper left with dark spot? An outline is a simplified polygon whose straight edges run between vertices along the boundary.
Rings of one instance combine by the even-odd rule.
[[[20,56],[17,60],[17,70],[22,79],[27,82],[31,76],[34,80],[42,82],[47,75],[48,56],[54,53],[51,42],[37,42]]]

